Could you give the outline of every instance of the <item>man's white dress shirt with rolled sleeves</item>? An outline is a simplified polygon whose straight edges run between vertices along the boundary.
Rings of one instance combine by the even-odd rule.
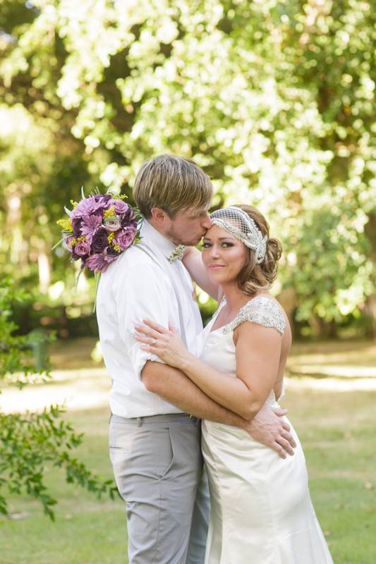
[[[159,264],[133,245],[101,275],[97,292],[99,339],[112,381],[111,412],[120,417],[181,412],[142,384],[140,374],[145,362],[162,361],[140,349],[134,338],[135,325],[147,317],[164,327],[171,323],[181,332],[179,300],[188,349],[193,354],[197,353],[196,336],[202,330],[188,271],[181,261],[170,264],[168,260],[174,243],[147,221],[140,235],[141,243],[154,252]]]

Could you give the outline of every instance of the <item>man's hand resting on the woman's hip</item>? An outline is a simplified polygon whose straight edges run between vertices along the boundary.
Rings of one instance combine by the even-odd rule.
[[[281,458],[286,458],[287,454],[293,455],[293,449],[296,447],[290,433],[290,425],[283,419],[286,413],[287,410],[263,405],[247,428],[247,432],[255,441],[269,446]]]

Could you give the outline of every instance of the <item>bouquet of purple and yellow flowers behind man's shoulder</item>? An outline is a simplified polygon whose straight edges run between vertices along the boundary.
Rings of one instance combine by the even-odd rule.
[[[140,240],[142,216],[123,201],[125,198],[110,191],[101,194],[99,190],[85,197],[82,188],[80,202],[71,200],[73,209],[64,207],[68,218],[57,222],[63,229],[57,245],[66,247],[72,262],[81,261],[80,273],[85,266],[94,271],[97,283],[100,274]]]

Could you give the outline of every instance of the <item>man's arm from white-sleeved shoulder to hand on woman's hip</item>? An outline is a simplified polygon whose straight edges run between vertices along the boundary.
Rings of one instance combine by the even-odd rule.
[[[267,412],[265,422],[261,422],[264,408],[252,422],[246,422],[245,419],[205,396],[205,393],[190,382],[183,372],[155,362],[159,360],[158,357],[140,349],[140,343],[135,341],[134,328],[142,319],[156,319],[166,327],[169,326],[169,322],[176,324],[173,317],[174,307],[166,307],[169,286],[166,286],[163,276],[156,276],[156,267],[152,261],[149,259],[145,261],[143,254],[141,256],[142,260],[133,264],[133,269],[123,268],[117,273],[114,288],[120,337],[123,341],[124,353],[131,360],[135,375],[139,377],[142,375],[144,385],[149,391],[157,393],[181,410],[200,419],[241,427],[250,432],[257,441],[277,450],[280,455],[283,452],[283,458],[286,456],[284,449],[291,453],[289,444],[292,437],[288,434],[289,427],[285,428],[286,423],[272,410]],[[162,296],[166,296],[166,299],[162,300]]]

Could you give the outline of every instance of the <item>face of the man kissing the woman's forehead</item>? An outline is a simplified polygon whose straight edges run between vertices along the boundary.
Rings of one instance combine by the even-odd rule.
[[[187,209],[169,218],[166,236],[176,245],[197,245],[212,226],[207,209]]]

